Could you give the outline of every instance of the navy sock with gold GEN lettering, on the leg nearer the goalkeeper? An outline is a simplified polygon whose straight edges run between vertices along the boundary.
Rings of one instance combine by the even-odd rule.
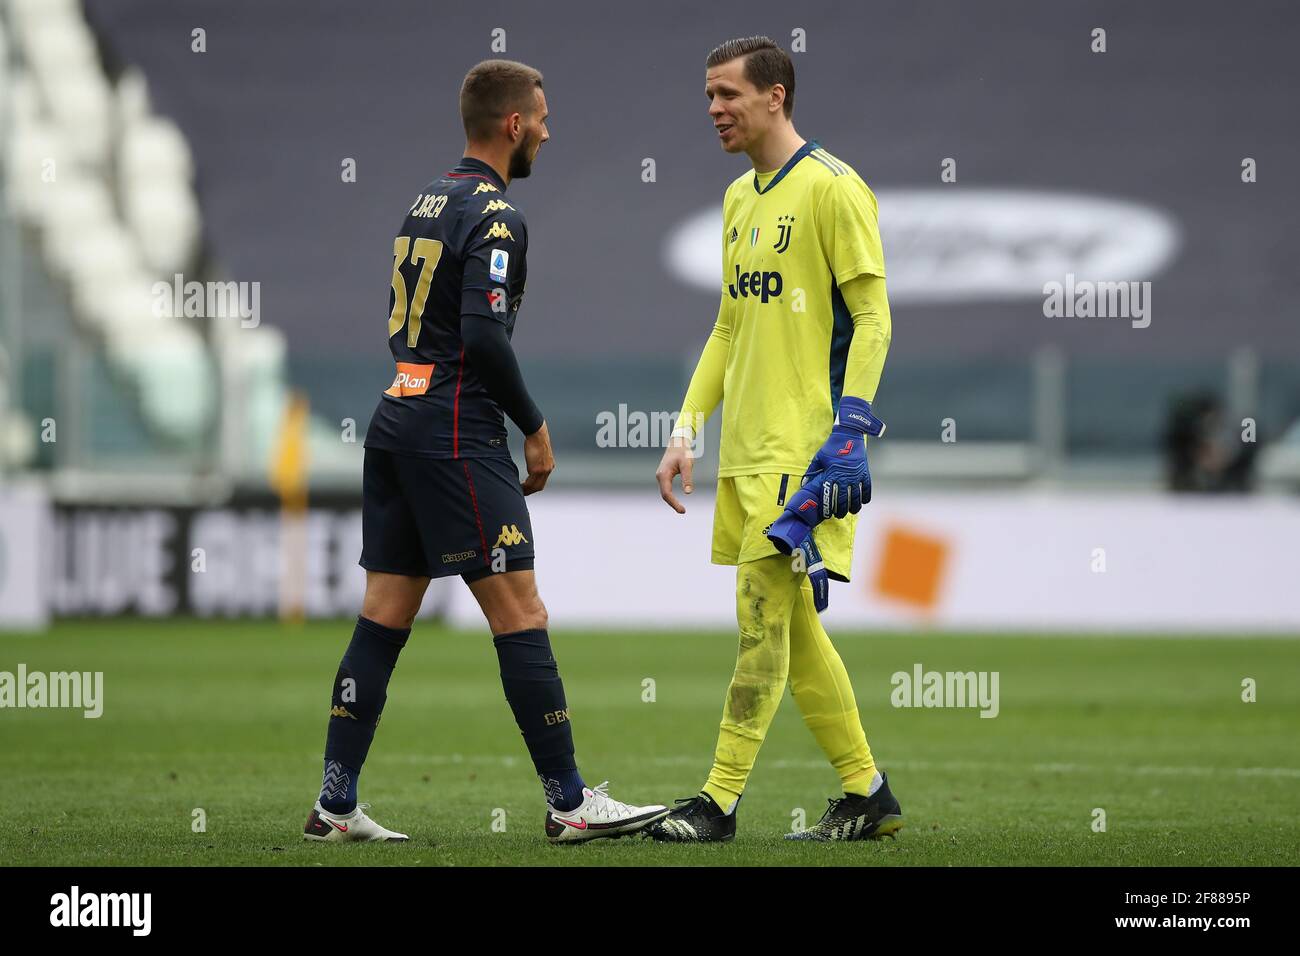
[[[506,691],[515,723],[546,792],[546,803],[556,810],[572,810],[582,803],[582,775],[573,758],[573,731],[564,682],[551,654],[551,641],[543,628],[497,635],[500,684]]]

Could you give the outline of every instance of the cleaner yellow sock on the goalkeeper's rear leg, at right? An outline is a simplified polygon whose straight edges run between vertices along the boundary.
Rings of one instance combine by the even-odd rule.
[[[790,618],[790,692],[803,723],[840,775],[845,793],[867,795],[876,763],[840,653],[822,627],[812,587],[803,583]]]

